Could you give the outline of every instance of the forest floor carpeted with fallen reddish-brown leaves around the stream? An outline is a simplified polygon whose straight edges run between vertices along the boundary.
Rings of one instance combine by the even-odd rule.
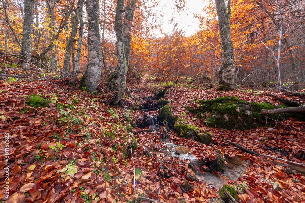
[[[206,126],[205,117],[198,119],[184,108],[187,104],[195,106],[194,100],[219,96],[272,104],[278,104],[277,100],[264,96],[261,91],[220,92],[215,88],[192,88],[182,83],[172,87],[158,82],[127,86],[133,89],[131,94],[141,100],[136,103],[137,107],[146,103],[145,98],[156,90],[166,88],[164,99],[171,101],[174,115],[213,136],[212,143],[207,146],[168,130],[172,143],[188,147],[196,157],[215,158],[214,150],[221,150],[229,157],[238,155],[250,163],[237,180],[228,180],[218,174],[225,184],[248,184],[246,193],[238,194],[239,202],[305,202],[305,168],[302,172],[299,167],[298,172],[292,173],[284,161],[248,154],[225,143],[225,140],[231,140],[260,154],[305,163],[297,158],[305,149],[304,122],[289,118],[277,122],[274,128],[225,130]],[[0,92],[0,202],[131,203],[139,202],[139,198],[144,198],[143,202],[150,202],[149,199],[211,202],[220,197],[218,189],[204,179],[197,183],[185,178],[192,170],[189,160],[162,152],[166,148],[162,141],[163,133],[167,131],[165,126],[153,132],[149,132],[148,127],[127,131],[126,126],[136,124],[139,118],[158,114],[158,111],[129,110],[135,101],[127,94],[123,98],[124,109],[108,106],[114,92],[105,84],[99,85],[99,90],[92,94],[71,87],[65,81],[27,83],[11,80],[0,84]],[[284,93],[264,92],[304,102]],[[31,94],[47,99],[49,106],[27,105]],[[5,138],[8,135],[9,139]],[[138,146],[130,153],[127,147],[133,136]],[[5,160],[7,148],[9,158]],[[151,149],[157,152],[149,156],[146,152]],[[188,180],[190,190],[182,189],[185,180]]]

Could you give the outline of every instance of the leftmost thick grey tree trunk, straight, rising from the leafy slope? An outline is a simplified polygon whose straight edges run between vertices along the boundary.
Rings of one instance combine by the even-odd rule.
[[[20,66],[23,69],[30,68],[32,55],[32,31],[33,31],[34,0],[24,1],[24,20],[22,32],[22,47],[20,51]]]

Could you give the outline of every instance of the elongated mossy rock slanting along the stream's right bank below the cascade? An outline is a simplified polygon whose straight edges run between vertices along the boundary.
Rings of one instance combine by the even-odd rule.
[[[192,138],[195,141],[209,145],[212,140],[212,134],[209,132],[201,132],[195,125],[185,124],[185,121],[178,119],[174,125],[174,129],[180,137]]]

